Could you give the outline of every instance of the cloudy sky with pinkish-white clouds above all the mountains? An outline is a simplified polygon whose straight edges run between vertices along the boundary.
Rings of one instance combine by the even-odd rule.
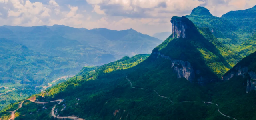
[[[171,31],[172,16],[188,15],[197,6],[220,17],[255,5],[256,0],[0,0],[0,26],[132,28],[153,35]]]

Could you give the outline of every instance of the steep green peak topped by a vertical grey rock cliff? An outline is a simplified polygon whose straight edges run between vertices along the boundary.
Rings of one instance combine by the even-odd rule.
[[[192,73],[188,73],[189,76],[183,74],[188,80],[191,77],[198,82],[204,81],[202,79],[211,81],[212,78],[207,76],[213,74],[221,76],[241,59],[239,54],[226,49],[226,46],[219,42],[208,28],[199,29],[186,17],[173,17],[171,22],[173,34],[156,47],[153,53],[188,61],[195,69]]]

